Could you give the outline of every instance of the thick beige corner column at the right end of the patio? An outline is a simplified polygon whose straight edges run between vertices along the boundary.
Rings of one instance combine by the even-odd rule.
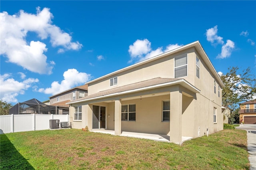
[[[182,92],[179,87],[170,92],[170,142],[182,142]]]

